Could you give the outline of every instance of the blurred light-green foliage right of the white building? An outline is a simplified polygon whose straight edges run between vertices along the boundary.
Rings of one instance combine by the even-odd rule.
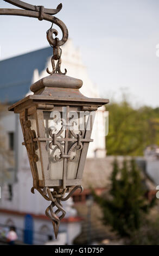
[[[143,155],[151,144],[159,145],[159,108],[133,108],[126,99],[110,103],[107,155]]]

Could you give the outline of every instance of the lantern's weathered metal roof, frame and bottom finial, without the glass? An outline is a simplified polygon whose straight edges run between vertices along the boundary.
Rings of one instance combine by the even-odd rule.
[[[82,150],[80,152],[77,175],[75,179],[66,179],[67,158],[64,157],[62,179],[53,180],[50,179],[47,170],[48,153],[46,152],[46,143],[48,140],[52,141],[53,138],[46,138],[43,123],[43,112],[53,111],[54,109],[56,109],[56,107],[62,108],[63,106],[67,107],[67,112],[69,107],[73,109],[79,109],[79,111],[91,112],[96,111],[98,107],[109,102],[109,100],[107,99],[91,99],[85,97],[79,92],[79,88],[81,86],[81,80],[65,75],[52,74],[48,77],[42,78],[42,80],[37,81],[30,87],[30,90],[34,92],[34,95],[29,95],[9,107],[9,111],[20,113],[20,118],[23,118],[26,121],[28,120],[28,115],[35,114],[37,137],[34,137],[34,131],[30,131],[29,134],[33,135],[33,138],[31,137],[28,139],[28,144],[24,138],[24,144],[26,145],[26,147],[28,145],[27,151],[30,147],[29,143],[32,143],[33,145],[33,150],[31,151],[32,159],[29,158],[31,172],[33,174],[33,188],[31,189],[31,192],[34,193],[34,188],[36,188],[36,190],[39,191],[46,200],[51,200],[51,204],[46,209],[46,215],[53,222],[55,236],[58,235],[60,220],[65,216],[65,210],[62,208],[62,204],[60,202],[62,200],[65,200],[64,196],[66,191],[69,192],[69,188],[72,188],[73,192],[78,188],[82,190],[82,172],[84,170],[84,165],[86,161],[88,144],[91,141],[91,129],[93,125],[93,120],[91,129],[85,131],[85,137],[82,140]],[[21,123],[23,122],[21,121]],[[23,131],[24,130],[25,129],[23,128]],[[38,143],[39,145],[42,180],[39,180],[39,176],[37,176],[36,163],[34,163],[34,161],[36,161],[37,159],[34,154],[34,143]],[[67,147],[65,148],[65,152],[63,154],[64,156],[68,157]],[[28,154],[28,157],[29,155],[30,154]],[[51,191],[52,188],[54,191]],[[67,197],[69,197],[69,195],[73,193],[72,191],[68,194]],[[48,194],[48,196],[46,194]],[[54,206],[56,206],[58,210],[54,211]],[[60,217],[57,216],[59,212],[61,212]]]

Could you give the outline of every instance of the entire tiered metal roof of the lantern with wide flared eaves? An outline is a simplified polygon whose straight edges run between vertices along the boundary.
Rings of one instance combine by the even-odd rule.
[[[8,110],[20,113],[23,107],[29,108],[32,104],[36,105],[38,103],[88,106],[89,109],[93,110],[109,103],[108,99],[94,99],[82,95],[79,91],[81,86],[82,81],[80,79],[61,74],[52,74],[43,77],[30,87],[34,95],[28,95],[14,103]]]

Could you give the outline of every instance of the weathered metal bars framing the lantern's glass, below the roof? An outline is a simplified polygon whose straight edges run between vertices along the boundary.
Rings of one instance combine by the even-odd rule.
[[[67,166],[67,158],[63,159],[63,179],[62,180],[53,180],[50,179],[49,177],[49,170],[47,170],[47,166],[48,166],[48,153],[46,151],[46,141],[53,141],[52,138],[46,138],[46,133],[45,133],[45,128],[44,128],[44,123],[43,123],[43,111],[50,111],[50,109],[39,109],[39,104],[35,105],[35,107],[30,106],[27,111],[28,113],[28,117],[29,115],[35,115],[35,119],[36,119],[36,129],[37,129],[37,137],[33,139],[33,142],[38,142],[39,145],[39,150],[40,150],[40,161],[41,161],[41,167],[42,167],[42,177],[43,179],[40,180],[39,177],[37,176],[37,167],[34,164],[34,160],[30,160],[30,156],[29,156],[29,161],[30,161],[30,166],[31,166],[31,172],[33,175],[33,181],[34,181],[34,187],[38,188],[38,187],[61,187],[61,188],[66,188],[68,186],[74,186],[74,185],[81,185],[82,182],[82,172],[84,169],[84,165],[85,165],[85,161],[86,161],[86,155],[87,155],[87,150],[88,150],[88,144],[90,142],[92,142],[93,140],[91,139],[91,132],[92,132],[92,126],[93,126],[93,120],[91,121],[91,127],[90,130],[86,130],[85,131],[85,136],[84,138],[81,138],[80,141],[83,144],[82,145],[82,150],[80,153],[80,158],[79,158],[79,164],[78,164],[78,168],[77,168],[77,176],[75,179],[66,179],[66,166]],[[48,104],[49,106],[49,104]],[[56,105],[51,105],[54,106],[52,111],[55,110],[56,111]],[[59,105],[58,105],[59,106]],[[61,105],[62,107],[63,105]],[[50,108],[50,107],[49,107]],[[77,107],[76,107],[77,108]],[[21,108],[22,109],[22,108]],[[67,111],[69,111],[69,106],[67,105]],[[82,111],[82,107],[80,107],[80,111]],[[51,112],[51,111],[50,111]],[[89,116],[89,118],[92,115]],[[20,120],[21,120],[21,125],[22,125],[22,130],[23,130],[23,134],[25,134],[24,131],[24,127],[23,127],[23,121],[22,119],[24,119],[25,117],[25,112],[22,111],[20,113]],[[68,121],[68,120],[67,120]],[[67,128],[66,128],[67,129]],[[65,141],[65,155],[67,155],[67,143],[68,141],[73,141],[73,142],[78,142],[78,138],[63,138],[63,139],[59,139],[59,141]],[[28,142],[26,143],[30,143],[30,139]],[[23,144],[26,144],[23,143]],[[34,166],[33,166],[34,165]]]

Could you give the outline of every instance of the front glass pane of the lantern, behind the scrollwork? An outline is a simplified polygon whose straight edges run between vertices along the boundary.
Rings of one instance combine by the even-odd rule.
[[[64,159],[67,159],[66,179],[76,179],[83,147],[80,139],[85,138],[89,115],[90,112],[82,112],[78,107],[69,106],[43,111],[46,138],[49,139],[46,141],[46,148],[50,179],[62,180]]]

